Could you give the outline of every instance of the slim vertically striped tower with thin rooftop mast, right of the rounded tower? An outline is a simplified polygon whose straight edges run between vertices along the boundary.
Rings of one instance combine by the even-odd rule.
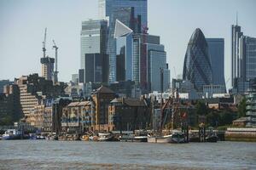
[[[231,31],[231,82],[232,87],[234,88],[236,85],[236,79],[241,77],[242,56],[240,55],[239,39],[243,33],[241,32],[241,26],[238,26],[237,23],[236,25],[232,25]]]

